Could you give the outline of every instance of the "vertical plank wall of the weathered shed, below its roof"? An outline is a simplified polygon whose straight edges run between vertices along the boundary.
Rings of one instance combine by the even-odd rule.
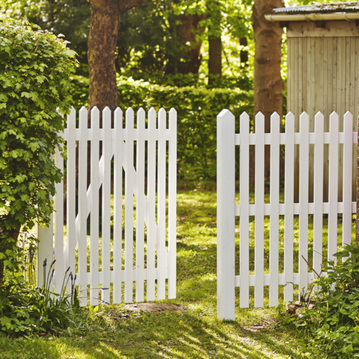
[[[314,116],[318,111],[325,118],[324,130],[329,130],[329,115],[339,115],[339,130],[343,131],[346,111],[358,119],[359,27],[348,21],[327,21],[325,27],[314,23],[290,22],[288,38],[288,111],[294,113],[295,130],[299,130],[299,115],[310,117],[310,132],[314,131]],[[353,130],[358,130],[354,120]],[[296,145],[297,146],[297,145]],[[313,145],[310,145],[313,146]],[[298,148],[296,149],[298,156]],[[328,191],[328,145],[325,145],[324,200]],[[310,163],[314,159],[310,148]],[[356,194],[356,151],[353,152],[353,200]],[[339,146],[338,199],[343,194],[343,144]],[[313,166],[310,166],[310,201],[313,198]],[[298,181],[298,168],[295,181]],[[296,183],[296,202],[299,183]]]

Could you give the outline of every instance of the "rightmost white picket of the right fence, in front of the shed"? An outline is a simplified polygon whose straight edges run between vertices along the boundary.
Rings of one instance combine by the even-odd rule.
[[[351,244],[351,178],[353,144],[351,132],[353,115],[347,111],[344,115],[343,143],[343,246]]]

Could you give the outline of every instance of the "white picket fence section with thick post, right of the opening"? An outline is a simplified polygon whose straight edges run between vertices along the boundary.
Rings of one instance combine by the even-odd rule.
[[[249,287],[254,286],[254,305],[264,305],[264,286],[269,286],[269,305],[277,306],[279,286],[284,300],[293,300],[293,283],[306,289],[314,279],[308,273],[308,215],[313,216],[313,268],[321,272],[323,214],[328,215],[328,259],[337,252],[338,213],[343,213],[343,245],[351,244],[353,116],[344,115],[344,130],[338,132],[338,115],[317,113],[315,130],[309,132],[309,117],[302,113],[300,132],[294,132],[294,115],[286,115],[285,133],[280,132],[277,113],[270,117],[270,133],[264,133],[264,115],[255,116],[255,133],[249,132],[249,116],[235,117],[223,110],[217,117],[217,308],[218,318],[235,319],[235,287],[240,287],[240,307],[249,306]],[[329,201],[323,202],[323,148],[329,144]],[[343,202],[338,202],[338,145],[343,143]],[[299,145],[299,203],[294,203],[294,144]],[[314,202],[308,202],[309,146],[314,144]],[[270,145],[270,203],[264,203],[264,146]],[[280,145],[285,145],[284,203],[279,202]],[[235,204],[235,146],[240,146],[240,204]],[[255,146],[255,204],[249,203],[249,148]],[[284,273],[279,273],[279,216],[284,215]],[[299,215],[299,273],[293,273],[293,216]],[[235,216],[240,217],[240,275],[235,275]],[[255,216],[255,274],[249,274],[249,216]],[[270,216],[269,274],[264,274],[264,216]]]

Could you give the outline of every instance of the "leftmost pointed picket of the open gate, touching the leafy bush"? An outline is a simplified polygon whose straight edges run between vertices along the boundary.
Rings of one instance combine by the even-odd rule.
[[[67,241],[65,247],[65,268],[69,267],[70,272],[75,274],[75,249],[76,240],[76,111],[71,108],[67,115],[67,184],[66,184],[66,203],[67,203]],[[67,286],[67,292],[71,292],[71,281]]]

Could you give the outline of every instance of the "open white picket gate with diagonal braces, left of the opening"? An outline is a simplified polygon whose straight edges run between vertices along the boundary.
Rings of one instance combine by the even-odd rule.
[[[176,297],[176,131],[177,119],[174,108],[169,113],[169,128],[166,127],[166,112],[157,114],[154,108],[146,113],[137,112],[137,128],[134,127],[134,112],[126,111],[126,128],[122,126],[122,111],[114,113],[114,128],[111,128],[111,111],[105,108],[91,111],[91,128],[87,126],[88,113],[82,107],[79,112],[79,128],[76,128],[76,111],[67,116],[67,128],[62,134],[67,146],[67,233],[64,235],[63,194],[64,183],[56,185],[54,236],[52,222],[47,229],[40,228],[38,238],[38,283],[43,282],[43,259],[47,263],[56,259],[54,290],[60,293],[65,270],[76,272],[76,285],[82,292],[80,305],[88,303],[86,292],[90,288],[91,305],[99,303],[99,287],[110,288],[113,283],[112,303],[133,301],[133,282],[136,284],[135,301],[170,299]],[[87,188],[87,143],[91,142],[91,178]],[[78,214],[76,215],[76,142],[78,143]],[[102,142],[102,157],[100,155]],[[145,153],[147,142],[147,173]],[[167,169],[168,143],[168,170]],[[136,145],[136,169],[134,167]],[[113,160],[113,182],[111,161]],[[55,163],[61,170],[64,161],[56,152]],[[156,168],[157,166],[157,168]],[[123,183],[124,169],[124,183]],[[167,179],[166,179],[167,174]],[[145,175],[147,187],[145,192]],[[168,192],[166,191],[168,181]],[[111,207],[113,187],[113,208]],[[99,223],[99,189],[102,187],[102,233]],[[124,187],[124,248],[122,246]],[[166,225],[167,193],[167,225]],[[134,253],[134,196],[136,198],[135,253]],[[156,210],[157,209],[157,210]],[[113,213],[111,211],[113,210]],[[88,217],[91,216],[90,236],[86,234]],[[111,235],[113,220],[113,235]],[[147,242],[145,246],[145,224]],[[168,234],[166,235],[166,231]],[[65,241],[66,238],[66,241]],[[100,240],[101,239],[101,240]],[[168,250],[166,248],[168,241]],[[78,248],[76,250],[76,246]],[[146,254],[145,254],[146,248]],[[78,257],[76,257],[76,252]],[[123,258],[124,253],[124,258]],[[113,263],[111,264],[111,254]],[[133,260],[135,254],[135,263]],[[157,265],[156,265],[157,262]],[[89,265],[88,265],[89,263]],[[112,267],[112,268],[111,268]],[[78,268],[75,270],[75,268]],[[167,280],[167,283],[166,283]],[[101,300],[110,302],[110,290],[103,290]]]

